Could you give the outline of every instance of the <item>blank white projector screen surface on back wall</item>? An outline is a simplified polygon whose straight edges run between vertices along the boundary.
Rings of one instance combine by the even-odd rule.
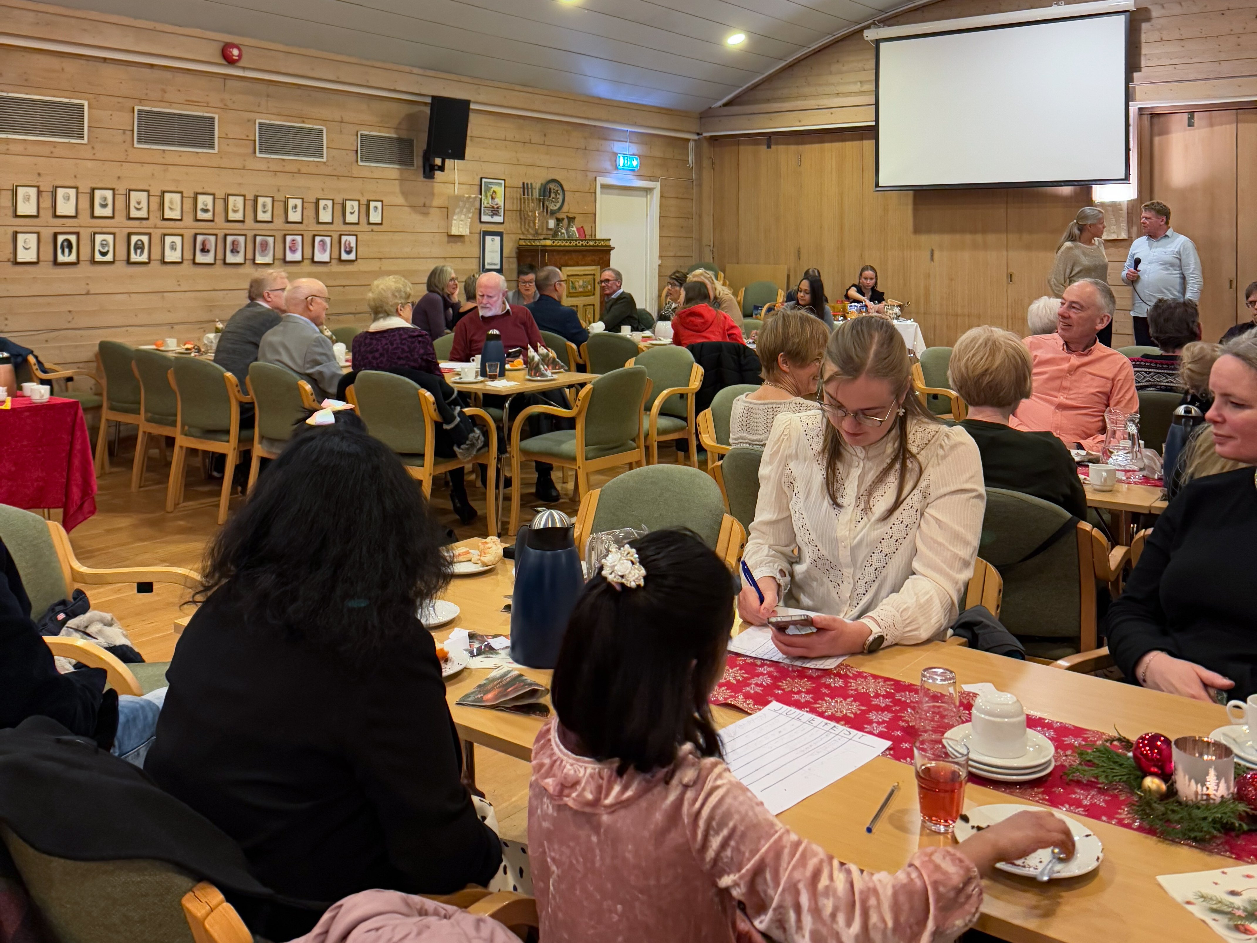
[[[877,41],[877,187],[1126,180],[1128,14]]]

